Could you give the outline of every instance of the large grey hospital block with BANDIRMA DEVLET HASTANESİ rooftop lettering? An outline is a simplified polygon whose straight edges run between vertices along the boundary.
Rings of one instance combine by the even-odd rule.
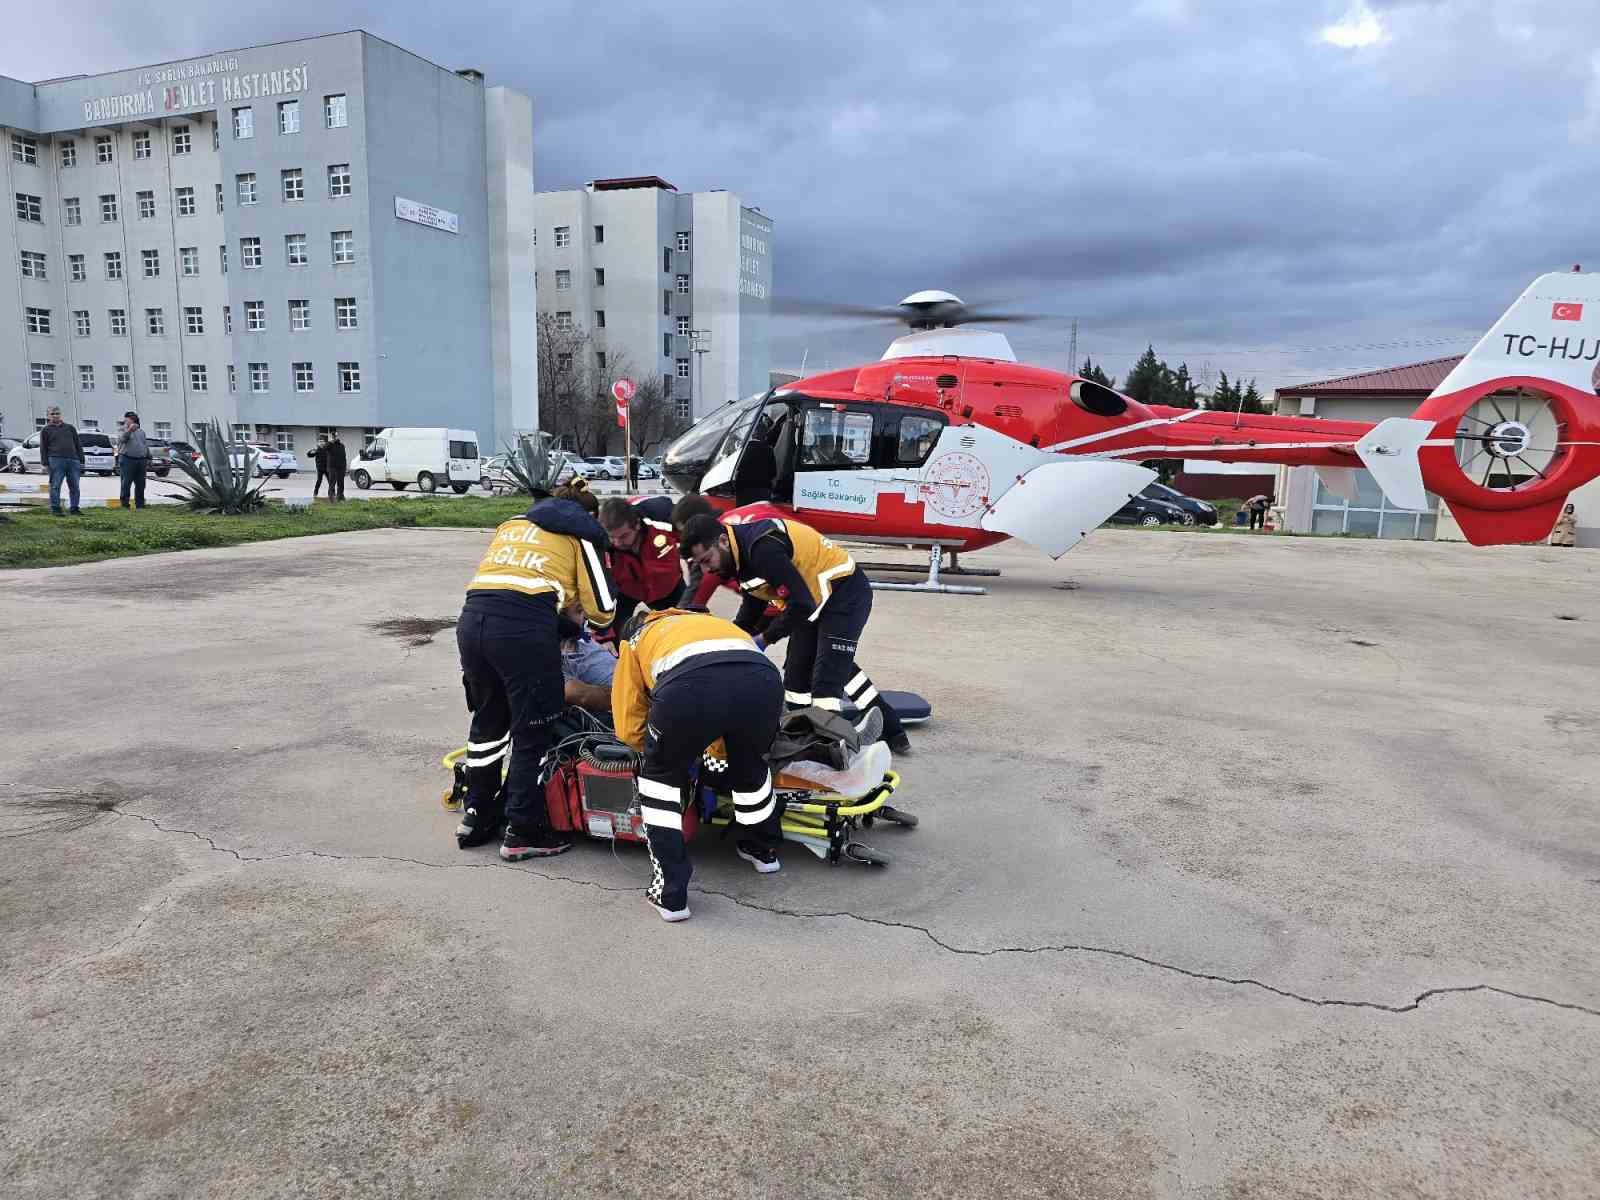
[[[538,421],[531,101],[363,32],[0,77],[0,432]]]

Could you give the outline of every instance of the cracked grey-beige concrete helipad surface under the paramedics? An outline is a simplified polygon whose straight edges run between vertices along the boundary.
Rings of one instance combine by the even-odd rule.
[[[669,928],[638,851],[450,842],[453,646],[370,624],[480,541],[0,574],[8,1195],[1595,1195],[1595,555],[880,594],[922,827],[702,843]]]

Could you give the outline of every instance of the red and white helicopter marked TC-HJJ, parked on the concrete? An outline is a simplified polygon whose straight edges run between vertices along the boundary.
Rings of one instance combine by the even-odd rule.
[[[1541,275],[1410,418],[1378,424],[1142,405],[1016,360],[946,291],[899,304],[912,333],[880,362],[730,403],[666,453],[664,475],[731,507],[765,464],[773,504],[835,538],[946,550],[1019,538],[1061,557],[1181,458],[1312,466],[1389,501],[1443,498],[1477,546],[1539,541],[1566,494],[1600,475],[1600,275]],[[986,318],[1005,320],[1005,317]],[[763,448],[765,446],[765,448]],[[966,571],[973,573],[973,571]],[[979,571],[997,574],[997,571]]]

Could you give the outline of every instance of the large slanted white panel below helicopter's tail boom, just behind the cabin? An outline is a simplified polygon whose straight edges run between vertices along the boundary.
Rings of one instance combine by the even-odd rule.
[[[979,525],[1059,558],[1154,478],[1154,470],[1133,462],[1042,462],[1006,488]]]

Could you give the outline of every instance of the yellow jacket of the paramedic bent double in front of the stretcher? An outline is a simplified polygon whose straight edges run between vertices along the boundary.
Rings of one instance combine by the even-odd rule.
[[[638,630],[618,643],[616,674],[611,677],[616,736],[635,750],[643,749],[651,693],[667,678],[728,661],[762,662],[778,670],[755,648],[750,635],[731,621],[682,608],[646,611]]]

